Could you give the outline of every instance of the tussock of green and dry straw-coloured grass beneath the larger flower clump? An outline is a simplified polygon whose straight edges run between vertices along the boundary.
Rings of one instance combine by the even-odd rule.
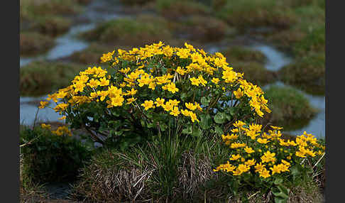
[[[195,202],[203,197],[201,185],[217,178],[214,164],[226,159],[217,139],[156,138],[126,151],[104,149],[82,170],[74,197],[131,202],[138,194],[136,201]]]

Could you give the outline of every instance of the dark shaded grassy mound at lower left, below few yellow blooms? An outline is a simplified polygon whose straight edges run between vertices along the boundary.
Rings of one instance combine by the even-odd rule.
[[[75,180],[91,157],[91,148],[69,136],[57,136],[36,126],[20,131],[23,185]]]

